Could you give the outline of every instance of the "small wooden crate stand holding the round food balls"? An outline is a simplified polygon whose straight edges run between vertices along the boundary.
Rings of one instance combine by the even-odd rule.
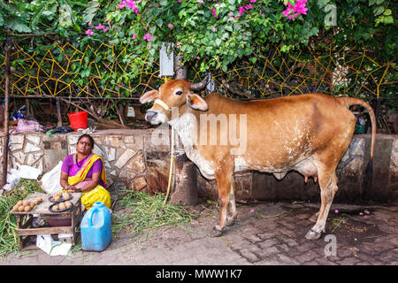
[[[34,210],[28,212],[10,211],[11,214],[15,214],[17,217],[17,233],[19,239],[20,249],[38,249],[34,244],[29,244],[29,240],[32,237],[42,234],[58,234],[58,233],[70,233],[72,234],[72,243],[77,242],[76,228],[80,224],[82,211],[81,211],[81,193],[73,193],[73,198],[70,200],[73,203],[73,209],[65,212],[52,212],[49,210],[51,204],[49,197],[50,194],[34,193],[28,195],[24,201],[33,201],[34,198],[41,196],[42,203],[39,203],[34,207]],[[28,216],[27,218],[25,218]],[[45,226],[35,228],[32,226],[33,218],[36,217],[51,217],[51,216],[62,216],[65,218],[72,218],[71,226]]]

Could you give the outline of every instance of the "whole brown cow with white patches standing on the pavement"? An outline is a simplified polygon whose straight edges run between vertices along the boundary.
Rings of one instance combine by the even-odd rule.
[[[306,235],[318,239],[325,232],[338,189],[337,164],[354,134],[356,117],[350,105],[361,105],[370,114],[373,157],[376,130],[371,106],[356,98],[321,94],[243,102],[219,94],[202,98],[192,91],[186,80],[169,80],[158,91],[146,92],[140,102],[155,101],[145,119],[154,125],[171,124],[188,158],[204,177],[217,180],[220,213],[213,235],[220,235],[237,216],[233,172],[272,172],[281,179],[295,170],[306,180],[318,178],[321,206],[315,226]]]

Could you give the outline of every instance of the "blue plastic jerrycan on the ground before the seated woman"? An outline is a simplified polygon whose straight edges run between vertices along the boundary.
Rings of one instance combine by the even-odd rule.
[[[81,249],[101,251],[112,238],[111,212],[103,202],[94,203],[81,220]]]

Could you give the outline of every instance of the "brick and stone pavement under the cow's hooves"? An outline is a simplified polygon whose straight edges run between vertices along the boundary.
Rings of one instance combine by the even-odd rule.
[[[339,214],[334,214],[335,209]],[[158,228],[137,242],[119,233],[103,252],[49,256],[42,250],[13,253],[0,264],[34,265],[396,265],[398,205],[364,207],[333,204],[326,233],[304,238],[318,211],[314,203],[256,203],[238,206],[238,222],[218,238],[208,236],[218,210],[199,204],[200,217],[188,226]],[[358,212],[359,211],[359,212]],[[335,245],[334,245],[335,244]]]

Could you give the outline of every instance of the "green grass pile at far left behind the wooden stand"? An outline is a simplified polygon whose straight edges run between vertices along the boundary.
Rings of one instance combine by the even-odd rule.
[[[34,193],[45,192],[36,180],[22,179],[10,193],[0,197],[0,256],[19,250],[17,218],[9,212],[18,201]]]

